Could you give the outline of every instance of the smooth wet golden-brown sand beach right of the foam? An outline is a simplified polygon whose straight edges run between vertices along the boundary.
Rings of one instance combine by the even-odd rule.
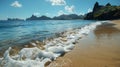
[[[120,20],[112,22],[98,26],[48,67],[120,67]]]

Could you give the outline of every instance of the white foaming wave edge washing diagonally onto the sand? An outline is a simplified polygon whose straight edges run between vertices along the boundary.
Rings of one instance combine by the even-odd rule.
[[[101,25],[106,21],[95,22],[84,26],[81,29],[74,29],[65,32],[63,37],[46,40],[45,49],[39,49],[35,44],[32,48],[23,48],[16,56],[10,56],[9,52],[12,49],[9,47],[5,51],[4,57],[0,58],[1,67],[44,67],[45,63],[56,60],[57,57],[71,51],[75,42],[94,30],[96,26]]]

